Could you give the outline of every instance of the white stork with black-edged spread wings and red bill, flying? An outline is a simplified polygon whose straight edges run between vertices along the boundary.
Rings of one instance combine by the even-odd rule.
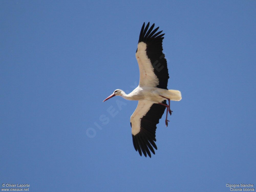
[[[165,125],[167,127],[168,112],[170,115],[170,100],[180,101],[181,93],[178,90],[168,90],[167,82],[169,78],[167,62],[164,58],[162,41],[164,34],[162,31],[156,33],[159,27],[154,28],[153,24],[149,29],[149,22],[145,27],[142,25],[136,59],[140,68],[140,83],[131,93],[126,94],[123,90],[117,89],[104,101],[120,95],[127,100],[138,100],[136,110],[131,116],[132,141],[133,146],[140,155],[151,158],[150,151],[155,154],[156,144],[156,124],[166,110]],[[145,28],[144,28],[145,27]],[[152,31],[153,30],[153,31]],[[168,105],[166,104],[168,100]],[[104,102],[103,101],[103,102]]]

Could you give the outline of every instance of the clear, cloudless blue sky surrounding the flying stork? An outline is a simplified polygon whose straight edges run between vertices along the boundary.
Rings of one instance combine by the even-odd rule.
[[[29,191],[230,191],[256,185],[255,1],[1,1],[0,182]],[[143,22],[169,89],[152,158],[133,148]],[[112,111],[112,112],[111,112]],[[111,115],[112,114],[112,115]]]

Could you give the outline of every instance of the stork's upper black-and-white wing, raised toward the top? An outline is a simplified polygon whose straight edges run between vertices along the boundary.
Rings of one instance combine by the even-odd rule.
[[[136,59],[140,68],[140,86],[167,89],[168,69],[164,58],[162,41],[164,33],[157,32],[153,24],[149,29],[149,22],[143,24],[136,51]],[[145,27],[145,28],[144,28]]]

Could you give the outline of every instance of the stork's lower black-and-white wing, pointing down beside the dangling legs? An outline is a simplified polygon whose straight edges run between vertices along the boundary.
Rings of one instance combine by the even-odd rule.
[[[166,100],[162,103],[166,104]],[[136,151],[145,157],[151,158],[150,151],[155,154],[156,124],[162,117],[165,106],[150,101],[139,101],[136,110],[131,116],[132,141]],[[154,147],[154,148],[153,148]]]

